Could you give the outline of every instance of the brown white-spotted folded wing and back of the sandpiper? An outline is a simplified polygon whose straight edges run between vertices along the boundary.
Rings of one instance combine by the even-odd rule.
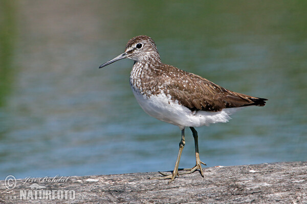
[[[221,111],[224,108],[264,106],[265,98],[236,93],[218,86],[199,75],[169,66],[165,74],[172,75],[166,83],[168,94],[173,101],[192,111]]]

